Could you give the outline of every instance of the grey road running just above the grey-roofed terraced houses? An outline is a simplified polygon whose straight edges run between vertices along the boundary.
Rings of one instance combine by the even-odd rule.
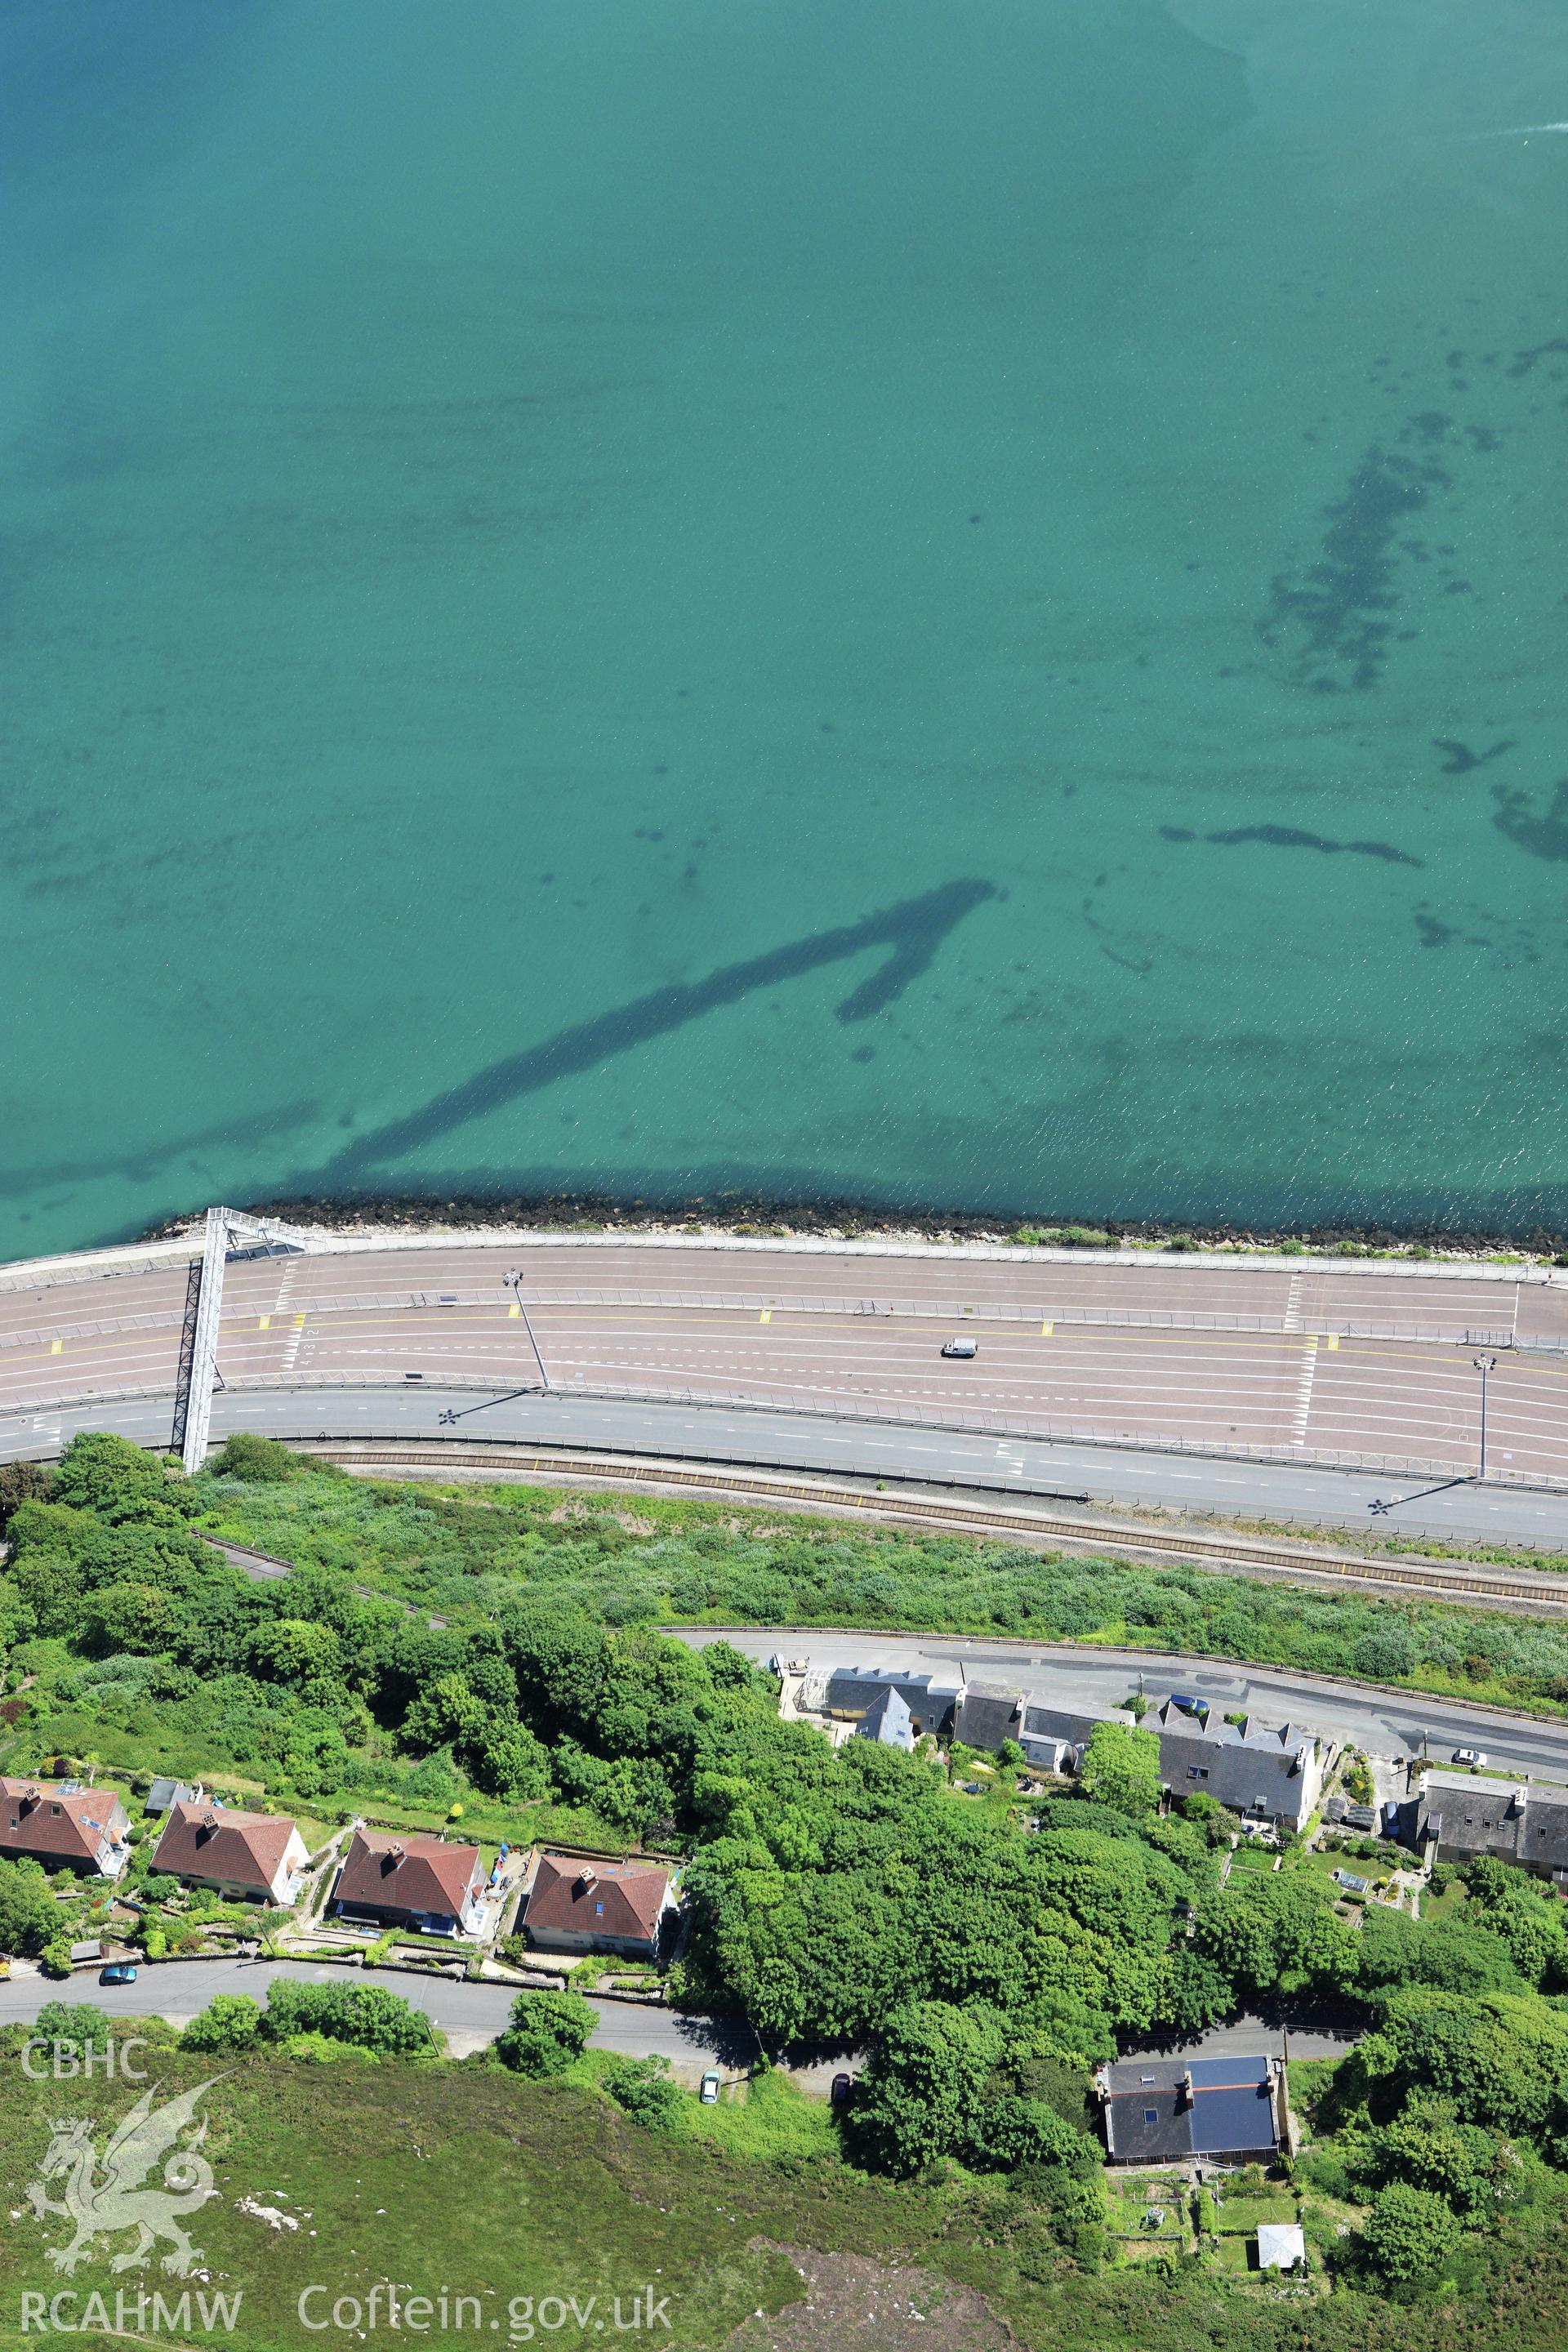
[[[701,1649],[719,1639],[710,1628],[679,1628],[677,1637]],[[1446,1764],[1455,1748],[1483,1748],[1488,1771],[1568,1783],[1568,1724],[1535,1724],[1490,1708],[1455,1708],[1418,1693],[1394,1696],[1316,1675],[1274,1668],[1225,1665],[1218,1658],[1152,1658],[1150,1651],[1041,1649],[1039,1642],[898,1642],[891,1635],[856,1639],[844,1632],[790,1628],[726,1632],[722,1639],[750,1658],[809,1658],[813,1665],[910,1665],[917,1675],[1009,1682],[1058,1708],[1084,1703],[1114,1708],[1143,1684],[1150,1696],[1192,1691],[1220,1715],[1248,1708],[1267,1724],[1300,1724],[1302,1731],[1352,1740],[1378,1757],[1418,1757],[1427,1733],[1429,1757]]]

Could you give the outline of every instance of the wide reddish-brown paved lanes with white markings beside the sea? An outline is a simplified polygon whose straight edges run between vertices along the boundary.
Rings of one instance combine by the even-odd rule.
[[[557,1242],[331,1249],[228,1268],[219,1355],[235,1383],[465,1378],[536,1364],[505,1287],[522,1263],[562,1388],[656,1390],[776,1409],[889,1411],[1032,1437],[1180,1439],[1288,1456],[1490,1465],[1568,1479],[1568,1284],[1537,1268],[1182,1268],[1171,1261],[856,1256]],[[0,1411],[49,1397],[172,1390],[179,1265],[71,1282],[0,1279]],[[973,1362],[940,1355],[954,1331]]]

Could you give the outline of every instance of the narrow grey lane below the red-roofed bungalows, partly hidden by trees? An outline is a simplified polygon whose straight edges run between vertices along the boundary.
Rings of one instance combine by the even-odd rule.
[[[0,1983],[0,2025],[31,2025],[45,2002],[73,1999],[92,2002],[110,2018],[160,2016],[183,2025],[212,2002],[216,1992],[249,1992],[254,2002],[266,1997],[266,1987],[294,1976],[306,1983],[341,1983],[360,1976],[397,1992],[414,2009],[423,2009],[430,2023],[451,2034],[456,2053],[494,2042],[508,2020],[512,1990],[508,1985],[461,1985],[451,1980],[425,1983],[418,1976],[402,1976],[388,1969],[327,1969],[313,1962],[292,1959],[188,1959],[143,1966],[134,1985],[99,1985],[92,1976],[78,1976],[71,1985],[49,1983],[42,1976],[16,1976]],[[595,2002],[599,2025],[592,2034],[597,2049],[621,2051],[628,2058],[668,2058],[672,2072],[693,2079],[703,2067],[745,2067],[757,2056],[757,2039],[745,2025],[712,2018],[682,2018],[668,2009],[642,2009],[632,2002]],[[1213,2025],[1197,2042],[1178,2044],[1178,2051],[1276,2051],[1279,2018],[1232,2018],[1229,2025]],[[1291,2025],[1293,2058],[1333,2058],[1356,2039],[1349,2020],[1309,2020]],[[830,2053],[818,2046],[788,2053],[790,2072],[809,2086],[825,2091],[839,2067],[858,2072],[858,2053]]]

